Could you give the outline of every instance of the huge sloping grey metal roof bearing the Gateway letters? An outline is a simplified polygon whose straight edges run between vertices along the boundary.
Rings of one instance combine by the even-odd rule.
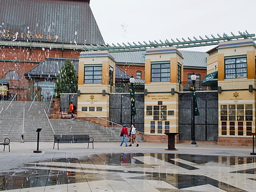
[[[104,44],[89,2],[1,0],[0,40]]]

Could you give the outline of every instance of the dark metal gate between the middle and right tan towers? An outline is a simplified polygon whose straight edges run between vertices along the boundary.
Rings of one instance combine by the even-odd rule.
[[[196,92],[199,116],[195,116],[196,141],[218,140],[218,92]],[[191,140],[192,93],[179,93],[180,140]]]

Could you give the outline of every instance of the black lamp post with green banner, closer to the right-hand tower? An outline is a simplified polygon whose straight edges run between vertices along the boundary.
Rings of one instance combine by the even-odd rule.
[[[194,116],[199,115],[199,112],[198,112],[197,103],[196,103],[196,88],[194,87],[194,84],[196,83],[196,75],[194,73],[191,74],[191,80],[192,80],[193,86],[190,87],[190,90],[192,91],[192,106],[191,106],[192,107],[192,116],[191,116],[191,140],[192,141],[190,146],[197,147],[196,137],[195,137]]]

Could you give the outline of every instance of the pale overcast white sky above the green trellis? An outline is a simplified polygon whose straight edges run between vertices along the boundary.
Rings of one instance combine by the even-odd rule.
[[[255,0],[91,0],[90,7],[108,44],[256,34]]]

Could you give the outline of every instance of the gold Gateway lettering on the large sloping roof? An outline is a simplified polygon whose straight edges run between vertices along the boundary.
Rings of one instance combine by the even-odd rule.
[[[7,38],[12,41],[16,40],[45,40],[56,42],[60,35],[46,35],[46,34],[32,34],[24,32],[10,32],[10,30],[2,30],[0,34],[1,38]]]

